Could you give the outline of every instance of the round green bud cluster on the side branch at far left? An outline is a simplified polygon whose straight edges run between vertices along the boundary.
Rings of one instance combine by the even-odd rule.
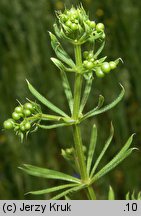
[[[32,117],[37,113],[34,103],[25,103],[17,106],[12,113],[12,118],[4,121],[4,129],[14,129],[17,134],[28,132],[31,129]]]

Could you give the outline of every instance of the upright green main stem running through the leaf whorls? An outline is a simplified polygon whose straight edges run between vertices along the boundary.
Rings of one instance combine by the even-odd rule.
[[[75,46],[75,60],[76,60],[76,66],[78,67],[78,70],[81,70],[82,56],[81,56],[80,45]],[[75,84],[74,84],[74,104],[73,104],[73,119],[75,119],[76,121],[79,120],[82,81],[83,81],[82,75],[76,73]],[[75,150],[76,150],[77,160],[79,164],[81,179],[83,182],[87,182],[89,181],[89,177],[87,175],[85,156],[83,152],[82,136],[81,136],[80,126],[78,124],[73,126],[73,137],[74,137]],[[87,195],[91,200],[96,199],[92,186],[88,186]]]

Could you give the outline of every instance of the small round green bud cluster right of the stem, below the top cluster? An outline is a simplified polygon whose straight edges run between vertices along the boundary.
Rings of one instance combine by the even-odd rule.
[[[119,63],[119,59],[115,61],[104,61],[105,58],[96,59],[93,51],[85,51],[83,52],[83,67],[84,72],[91,72],[94,71],[97,77],[104,77],[105,74],[108,74],[111,70],[115,69],[117,64]]]

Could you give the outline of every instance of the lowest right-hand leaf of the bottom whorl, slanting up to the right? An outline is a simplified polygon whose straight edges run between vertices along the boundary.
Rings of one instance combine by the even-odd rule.
[[[128,149],[124,154],[122,154],[119,158],[113,158],[108,164],[106,164],[93,178],[92,183],[100,179],[102,176],[106,175],[112,169],[114,169],[118,164],[120,164],[125,158],[127,158],[134,148]]]

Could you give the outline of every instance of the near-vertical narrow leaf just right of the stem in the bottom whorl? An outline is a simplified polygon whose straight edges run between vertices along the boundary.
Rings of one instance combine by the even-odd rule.
[[[96,141],[97,141],[97,128],[96,125],[93,125],[92,132],[91,132],[91,139],[90,139],[90,146],[88,151],[88,158],[87,158],[87,173],[89,175],[92,161],[93,161],[93,155],[95,152],[96,147]]]

